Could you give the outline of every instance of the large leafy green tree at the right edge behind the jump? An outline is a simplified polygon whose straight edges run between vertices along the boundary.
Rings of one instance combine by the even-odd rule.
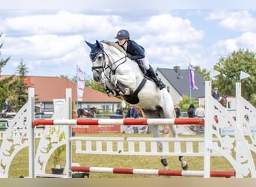
[[[216,76],[213,86],[219,88],[221,95],[235,95],[235,84],[240,82],[240,71],[249,73],[250,77],[242,80],[242,96],[255,103],[256,96],[256,58],[254,52],[240,49],[226,58],[220,58],[214,69],[221,74]]]

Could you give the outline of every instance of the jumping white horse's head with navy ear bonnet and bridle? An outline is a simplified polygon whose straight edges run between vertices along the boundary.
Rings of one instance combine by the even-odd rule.
[[[91,48],[90,58],[92,62],[91,70],[93,72],[93,78],[96,82],[99,82],[101,79],[101,73],[103,73],[104,68],[106,67],[106,62],[103,59],[103,44],[96,40],[96,43],[85,43]]]

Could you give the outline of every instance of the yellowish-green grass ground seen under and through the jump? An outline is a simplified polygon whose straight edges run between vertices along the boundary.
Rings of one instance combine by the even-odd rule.
[[[82,136],[82,134],[79,134]],[[84,135],[85,136],[85,135]],[[86,136],[128,136],[127,134],[86,134]],[[129,135],[137,136],[138,135]],[[151,137],[151,135],[140,135],[141,137]],[[195,137],[195,135],[183,135],[183,137]],[[196,137],[203,137],[196,135]],[[38,140],[36,141],[36,144]],[[85,155],[75,153],[75,144],[73,142],[72,162],[77,162],[81,166],[109,167],[109,168],[144,168],[144,169],[162,169],[159,156],[113,156],[113,155]],[[65,154],[61,156],[62,163],[65,162]],[[166,156],[168,167],[171,170],[181,170],[180,162],[177,156]],[[201,171],[204,169],[203,157],[186,156],[186,162],[189,164],[189,170]],[[46,173],[51,174],[52,161],[46,167]],[[234,171],[231,164],[224,157],[211,157],[211,171]],[[17,178],[19,176],[28,176],[28,147],[21,150],[13,159],[10,165],[9,177]],[[103,174],[91,173],[90,178],[159,178],[164,176],[154,175],[130,175],[130,174]]]

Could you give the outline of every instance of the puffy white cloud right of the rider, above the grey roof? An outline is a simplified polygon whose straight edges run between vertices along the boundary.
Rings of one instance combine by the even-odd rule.
[[[150,16],[143,27],[144,34],[138,43],[147,46],[146,52],[153,67],[188,67],[189,61],[197,61],[191,50],[201,50],[204,31],[192,26],[189,19],[171,14]]]

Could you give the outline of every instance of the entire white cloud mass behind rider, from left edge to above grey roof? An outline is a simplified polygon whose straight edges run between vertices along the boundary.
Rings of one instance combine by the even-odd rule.
[[[147,49],[153,62],[162,61],[163,65],[167,61],[180,60],[180,56],[191,57],[189,49],[200,46],[198,41],[204,37],[204,32],[193,28],[189,19],[170,13],[144,13],[138,20],[127,19],[126,13],[131,11],[124,15],[113,10],[95,14],[70,10],[17,11],[13,16],[1,19],[4,28],[2,52],[11,55],[13,67],[23,59],[31,74],[42,72],[44,66],[61,64],[58,69],[63,69],[64,66],[74,67],[74,63],[87,67],[85,71],[91,73],[89,48],[84,40],[91,43],[115,40],[115,34],[121,28],[127,28],[131,38]],[[50,73],[48,69],[47,73]]]

